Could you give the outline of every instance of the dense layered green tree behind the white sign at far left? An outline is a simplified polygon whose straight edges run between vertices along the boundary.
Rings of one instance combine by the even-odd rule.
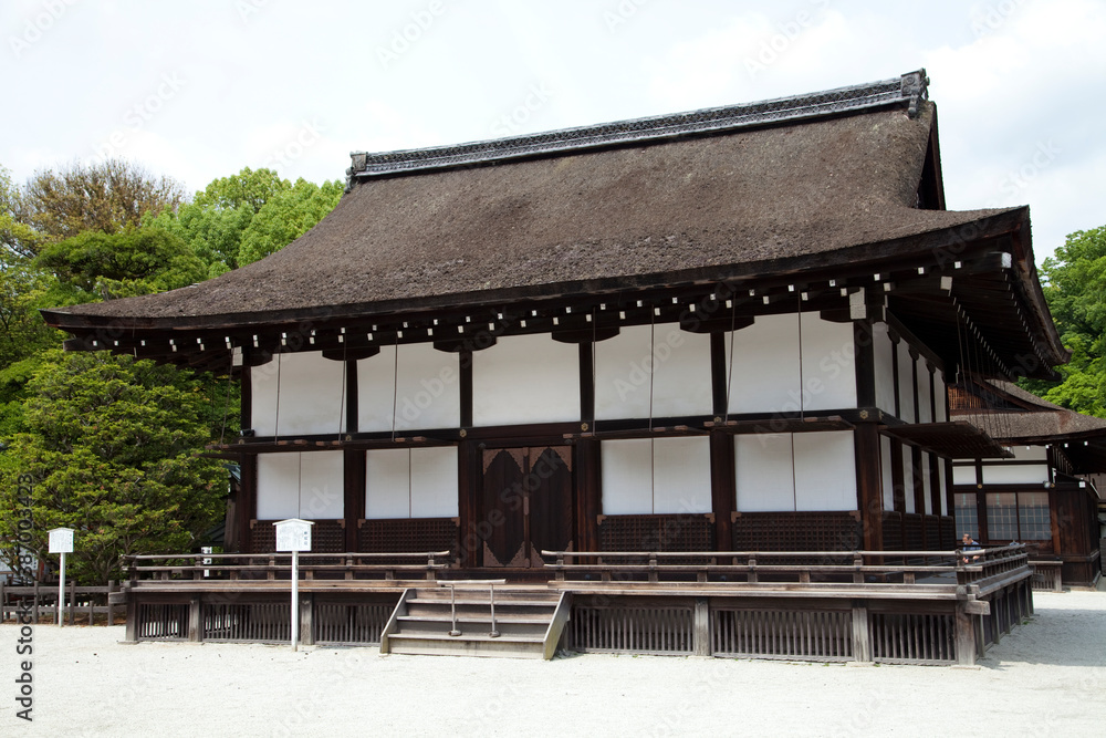
[[[222,516],[226,471],[195,454],[221,398],[188,372],[52,351],[29,386],[28,430],[0,455],[0,540],[17,538],[20,477],[33,487],[32,550],[44,554],[51,528],[74,529],[80,582],[118,578],[124,554],[187,551]]]

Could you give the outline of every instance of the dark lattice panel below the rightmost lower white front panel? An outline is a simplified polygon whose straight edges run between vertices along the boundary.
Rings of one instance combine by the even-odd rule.
[[[742,512],[734,551],[855,551],[860,523],[848,512]]]

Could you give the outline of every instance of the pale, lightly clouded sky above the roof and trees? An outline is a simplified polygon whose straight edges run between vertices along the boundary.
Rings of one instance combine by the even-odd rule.
[[[754,102],[925,67],[949,209],[1106,225],[1106,0],[4,0],[0,166],[243,167]]]

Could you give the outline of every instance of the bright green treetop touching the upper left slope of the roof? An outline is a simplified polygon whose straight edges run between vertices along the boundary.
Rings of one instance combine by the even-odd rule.
[[[324,181],[322,187],[298,179],[292,189],[270,199],[258,210],[250,227],[242,233],[239,264],[244,266],[280,251],[300,238],[333,210],[345,186],[340,180]]]

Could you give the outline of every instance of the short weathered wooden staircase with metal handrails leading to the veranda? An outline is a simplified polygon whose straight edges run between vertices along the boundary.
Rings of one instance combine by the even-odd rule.
[[[384,628],[380,653],[549,659],[568,622],[570,597],[487,582],[409,589]]]

